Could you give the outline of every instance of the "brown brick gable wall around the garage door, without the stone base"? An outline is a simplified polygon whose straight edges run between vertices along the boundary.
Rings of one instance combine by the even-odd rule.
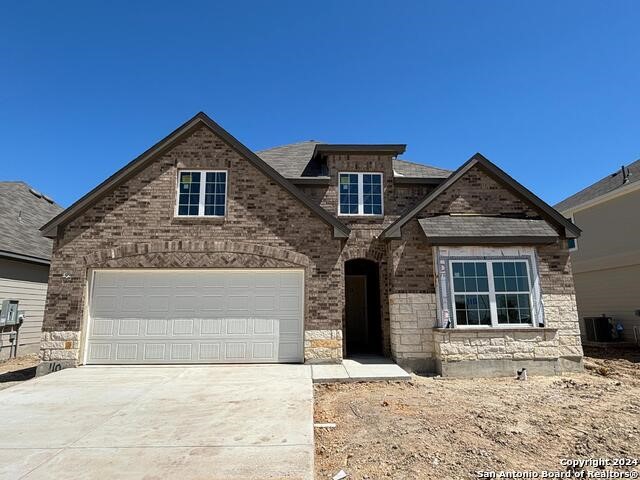
[[[174,216],[179,168],[228,170],[224,219]],[[305,329],[340,329],[343,243],[315,213],[201,127],[59,228],[43,331],[80,331],[91,268],[292,265],[306,272]]]

